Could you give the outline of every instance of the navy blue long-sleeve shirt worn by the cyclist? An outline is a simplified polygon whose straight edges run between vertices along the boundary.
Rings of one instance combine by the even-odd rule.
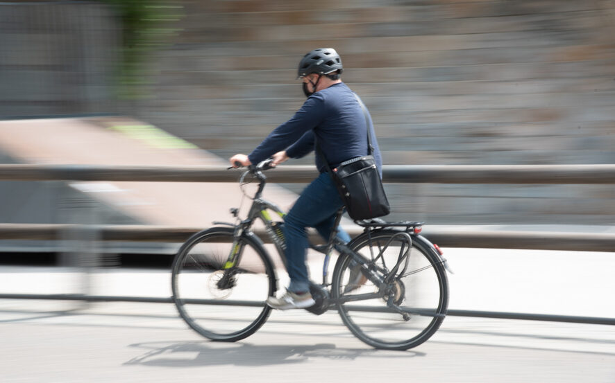
[[[372,155],[382,171],[382,157],[367,113],[371,132]],[[248,155],[251,163],[259,163],[273,154],[286,150],[291,158],[301,158],[315,149],[315,140],[331,168],[355,157],[367,154],[367,125],[363,110],[353,91],[339,82],[308,97],[301,109],[287,122],[276,127],[266,139]],[[326,172],[319,155],[316,166]]]

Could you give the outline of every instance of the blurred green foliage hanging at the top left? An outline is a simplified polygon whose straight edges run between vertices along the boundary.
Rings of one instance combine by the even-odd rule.
[[[117,10],[121,19],[121,59],[117,73],[117,96],[134,100],[149,96],[151,54],[168,44],[178,32],[173,28],[183,16],[174,0],[99,0]]]

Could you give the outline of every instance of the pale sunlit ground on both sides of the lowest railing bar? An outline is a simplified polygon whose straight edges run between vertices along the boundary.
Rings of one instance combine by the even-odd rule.
[[[450,249],[447,258],[451,309],[615,317],[613,253]],[[82,278],[0,267],[0,291],[67,292]],[[169,273],[99,271],[90,289],[168,296]],[[3,383],[615,382],[615,328],[575,323],[448,317],[426,344],[393,352],[362,344],[336,312],[273,312],[252,337],[220,344],[170,304],[0,300],[0,339]]]

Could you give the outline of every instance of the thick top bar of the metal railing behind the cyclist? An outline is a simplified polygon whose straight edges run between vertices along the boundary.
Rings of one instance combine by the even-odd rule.
[[[278,166],[271,182],[305,183],[314,166]],[[397,184],[615,184],[615,165],[385,165],[382,179]],[[226,166],[0,165],[0,180],[235,182]]]

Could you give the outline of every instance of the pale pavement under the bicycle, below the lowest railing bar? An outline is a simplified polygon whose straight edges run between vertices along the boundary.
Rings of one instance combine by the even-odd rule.
[[[171,305],[45,305],[0,313],[2,382],[615,381],[605,326],[451,317],[426,344],[394,352],[365,346],[332,313],[275,312],[252,337],[221,344],[187,329]]]

